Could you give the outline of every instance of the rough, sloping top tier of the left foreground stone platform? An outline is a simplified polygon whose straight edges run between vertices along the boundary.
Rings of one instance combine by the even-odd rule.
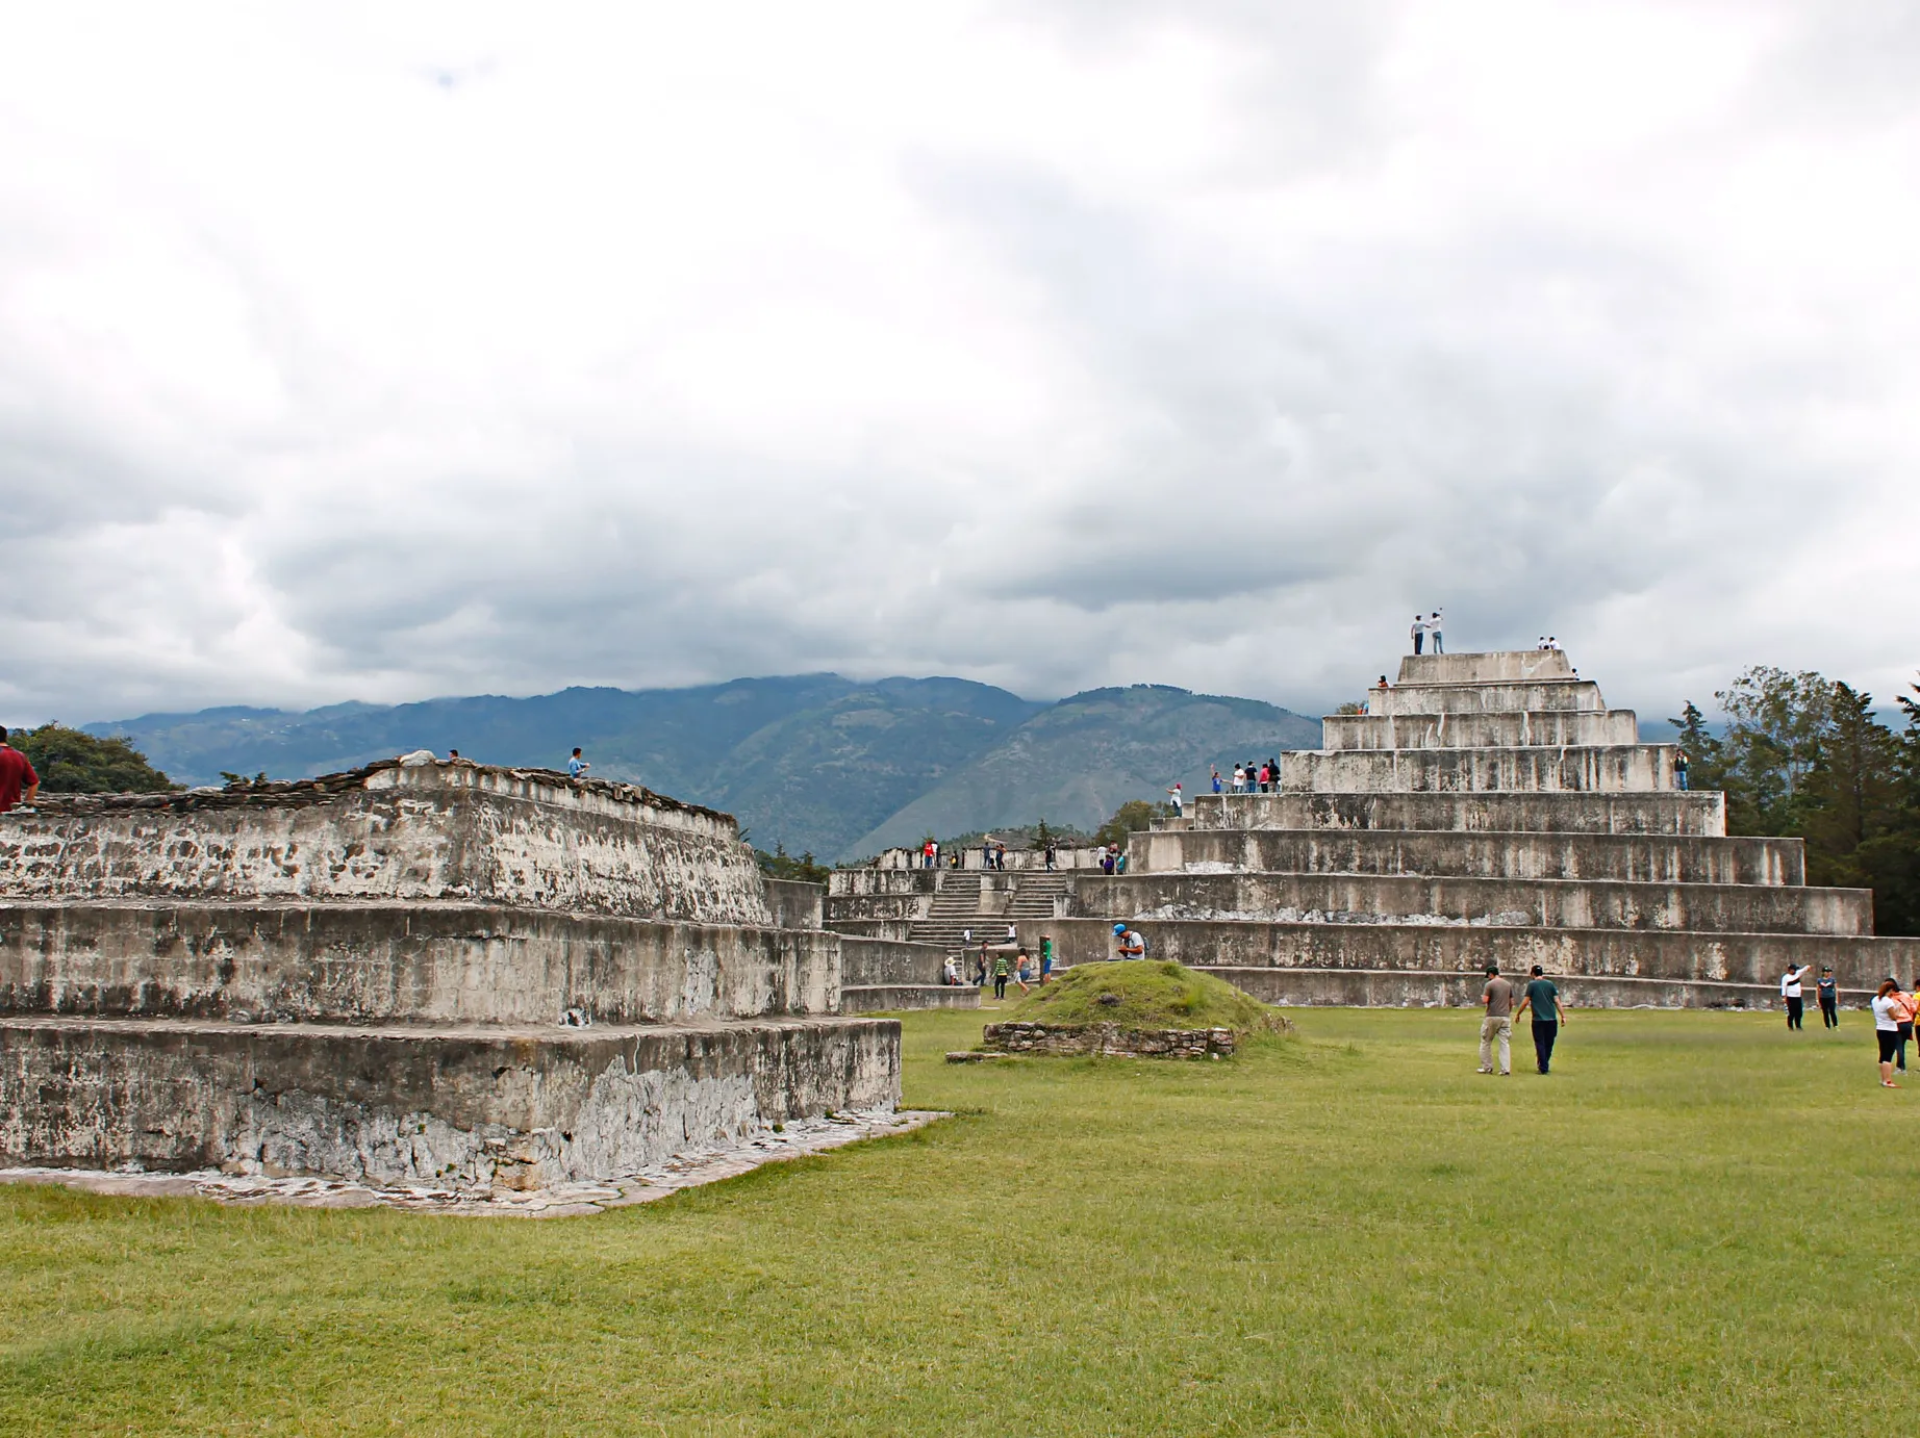
[[[138,806],[88,799],[0,816],[0,895],[459,899],[772,923],[728,814],[630,785],[463,762]]]

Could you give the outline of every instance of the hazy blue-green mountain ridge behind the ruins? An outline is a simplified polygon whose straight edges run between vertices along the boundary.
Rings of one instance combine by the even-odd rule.
[[[563,689],[288,712],[204,708],[84,726],[125,733],[180,783],[301,778],[432,749],[561,768],[724,808],[762,849],[864,858],[925,833],[1092,827],[1127,799],[1192,793],[1210,764],[1319,743],[1319,722],[1256,699],[1167,685],[1037,703],[952,678],[795,674],[689,689]]]

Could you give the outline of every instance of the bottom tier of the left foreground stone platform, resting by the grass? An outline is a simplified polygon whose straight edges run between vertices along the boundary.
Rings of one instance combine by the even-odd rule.
[[[376,1185],[614,1177],[899,1102],[899,1023],[348,1029],[0,1019],[0,1160]]]

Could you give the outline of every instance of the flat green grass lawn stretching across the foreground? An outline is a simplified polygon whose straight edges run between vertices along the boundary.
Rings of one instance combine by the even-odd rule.
[[[1910,1425],[1920,1073],[1862,1016],[1574,1014],[1548,1079],[1296,1018],[948,1067],[979,1016],[912,1016],[958,1117],[591,1219],[0,1190],[0,1432]]]

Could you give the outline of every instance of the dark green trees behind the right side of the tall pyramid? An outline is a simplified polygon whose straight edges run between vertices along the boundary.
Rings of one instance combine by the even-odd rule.
[[[1726,831],[1803,839],[1809,883],[1872,889],[1878,933],[1920,933],[1920,703],[1901,695],[1893,730],[1870,693],[1768,666],[1715,701],[1722,733],[1692,701],[1668,722],[1692,785],[1726,791]]]

